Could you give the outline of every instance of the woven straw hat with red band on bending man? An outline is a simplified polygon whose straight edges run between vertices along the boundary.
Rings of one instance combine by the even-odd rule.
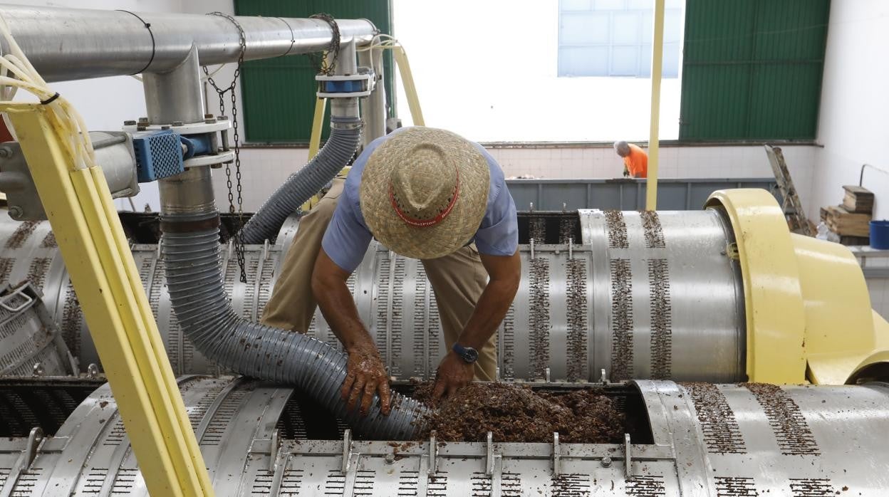
[[[435,128],[407,128],[367,159],[361,212],[373,236],[391,250],[436,259],[476,234],[490,182],[488,162],[469,140]]]

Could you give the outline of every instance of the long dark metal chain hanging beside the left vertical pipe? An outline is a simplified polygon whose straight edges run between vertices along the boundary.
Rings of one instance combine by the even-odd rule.
[[[241,283],[247,283],[247,272],[245,269],[244,262],[244,238],[241,236],[241,228],[244,226],[244,196],[242,194],[242,186],[241,186],[241,137],[238,134],[238,124],[237,124],[237,92],[235,91],[238,77],[241,76],[241,64],[244,62],[244,50],[247,47],[247,38],[244,35],[244,28],[241,28],[241,25],[238,24],[237,20],[234,17],[228,15],[224,12],[210,12],[207,15],[218,15],[220,17],[224,17],[231,21],[232,24],[237,28],[237,33],[239,36],[240,42],[240,52],[237,56],[237,65],[235,67],[235,76],[232,77],[231,84],[228,84],[225,88],[220,88],[215,81],[213,81],[212,76],[207,71],[207,67],[204,66],[204,75],[207,76],[207,82],[209,82],[213,89],[216,90],[216,94],[219,95],[220,98],[220,116],[225,116],[225,94],[231,93],[231,125],[234,128],[234,141],[235,141],[235,185],[237,192],[237,220],[235,222],[234,232],[232,235],[235,238],[235,253],[237,257],[237,266],[241,270]],[[225,164],[225,177],[226,177],[226,186],[228,187],[228,212],[235,213],[235,196],[232,193],[232,185],[231,185],[231,164]]]

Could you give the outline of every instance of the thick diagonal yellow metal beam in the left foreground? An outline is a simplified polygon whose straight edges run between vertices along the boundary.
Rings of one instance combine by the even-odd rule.
[[[19,137],[37,193],[152,495],[212,495],[164,343],[105,176],[74,169],[49,108],[0,106]]]

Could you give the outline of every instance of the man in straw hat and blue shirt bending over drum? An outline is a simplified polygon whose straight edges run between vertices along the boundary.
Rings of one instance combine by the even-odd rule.
[[[518,290],[516,205],[499,164],[453,132],[412,127],[374,140],[308,215],[287,253],[262,322],[308,331],[316,305],[348,352],[341,394],[389,412],[385,366],[346,284],[375,237],[420,259],[450,349],[435,395],[494,380],[494,333]]]

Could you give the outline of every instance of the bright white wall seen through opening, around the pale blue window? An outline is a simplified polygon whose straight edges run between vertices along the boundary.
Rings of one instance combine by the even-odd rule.
[[[558,0],[392,5],[427,125],[477,141],[648,139],[649,79],[557,77]],[[678,136],[679,82],[661,85],[662,140]]]

